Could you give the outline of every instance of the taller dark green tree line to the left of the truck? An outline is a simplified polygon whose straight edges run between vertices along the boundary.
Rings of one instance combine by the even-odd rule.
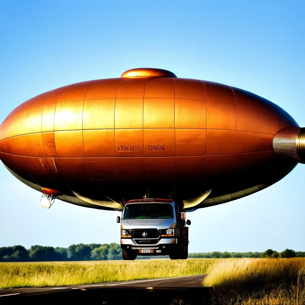
[[[66,261],[66,260],[121,260],[121,247],[111,244],[77,244],[68,248],[11,246],[0,248],[1,262]]]

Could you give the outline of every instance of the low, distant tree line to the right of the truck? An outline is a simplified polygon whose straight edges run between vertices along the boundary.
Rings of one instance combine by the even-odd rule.
[[[282,252],[277,252],[272,249],[267,249],[265,252],[206,252],[206,253],[189,253],[188,257],[192,258],[238,258],[238,257],[273,257],[273,258],[291,258],[305,257],[305,252],[292,249],[285,249]]]

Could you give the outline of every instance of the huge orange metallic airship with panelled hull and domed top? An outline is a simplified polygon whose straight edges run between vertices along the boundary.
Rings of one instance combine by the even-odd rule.
[[[77,205],[116,210],[147,194],[191,209],[282,179],[304,162],[304,135],[248,91],[138,68],[22,103],[0,126],[0,159],[23,183]]]

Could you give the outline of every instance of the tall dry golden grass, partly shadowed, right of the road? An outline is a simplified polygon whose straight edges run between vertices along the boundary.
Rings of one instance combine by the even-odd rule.
[[[305,304],[305,258],[219,259],[207,273],[213,304]]]

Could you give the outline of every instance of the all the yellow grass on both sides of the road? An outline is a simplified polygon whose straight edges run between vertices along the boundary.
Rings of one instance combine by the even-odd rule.
[[[208,274],[212,305],[304,305],[305,258],[0,263],[0,289]]]

